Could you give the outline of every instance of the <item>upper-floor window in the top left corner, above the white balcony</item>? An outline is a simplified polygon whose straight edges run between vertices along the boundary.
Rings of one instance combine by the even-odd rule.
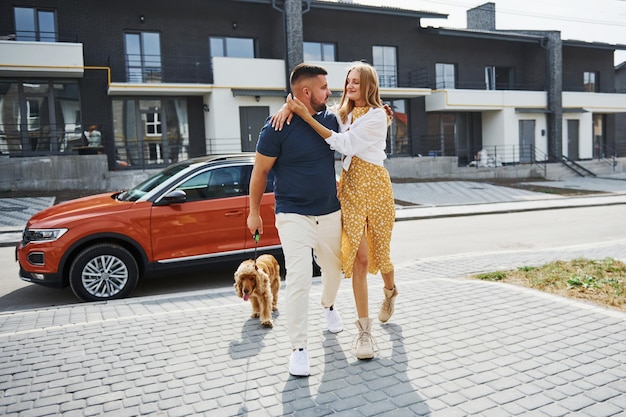
[[[16,7],[14,14],[18,41],[56,42],[56,15],[53,10]]]

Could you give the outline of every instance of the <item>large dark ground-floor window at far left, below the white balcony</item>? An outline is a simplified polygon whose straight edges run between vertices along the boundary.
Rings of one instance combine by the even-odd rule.
[[[76,82],[0,82],[0,153],[69,152],[80,145],[81,134]]]

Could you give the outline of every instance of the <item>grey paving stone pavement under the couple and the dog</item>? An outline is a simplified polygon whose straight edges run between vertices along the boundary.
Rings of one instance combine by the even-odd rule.
[[[626,314],[466,278],[624,253],[626,239],[399,265],[370,361],[353,354],[350,281],[335,335],[314,280],[308,378],[288,374],[280,295],[273,329],[231,289],[0,314],[0,415],[624,417]]]

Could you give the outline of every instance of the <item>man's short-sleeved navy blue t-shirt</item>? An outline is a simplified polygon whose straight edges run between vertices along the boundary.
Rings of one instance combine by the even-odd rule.
[[[328,129],[339,129],[328,111],[313,116]],[[276,131],[269,118],[259,135],[257,152],[276,157],[276,213],[322,216],[339,210],[335,181],[335,152],[308,123],[294,114],[290,125]]]

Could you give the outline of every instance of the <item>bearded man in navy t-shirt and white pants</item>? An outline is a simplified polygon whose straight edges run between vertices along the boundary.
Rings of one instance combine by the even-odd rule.
[[[331,91],[327,72],[317,65],[300,64],[290,77],[291,91],[324,126],[338,129],[336,117],[326,110]],[[269,119],[261,130],[250,179],[248,228],[263,233],[261,196],[267,174],[274,171],[276,228],[287,269],[287,332],[292,353],[289,373],[310,374],[307,351],[309,292],[313,266],[311,250],[322,270],[321,304],[328,330],[338,333],[343,323],[333,304],[341,282],[341,210],[337,198],[334,151],[301,118],[294,116],[281,131]]]

